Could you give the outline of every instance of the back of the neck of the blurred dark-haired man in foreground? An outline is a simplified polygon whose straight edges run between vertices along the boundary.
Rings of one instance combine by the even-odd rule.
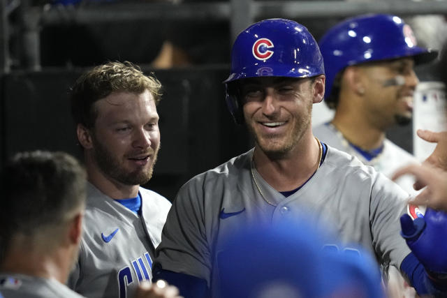
[[[24,274],[41,278],[54,278],[60,283],[66,283],[71,270],[71,260],[67,251],[45,251],[15,248],[8,251],[1,271],[10,274]],[[44,252],[45,251],[45,252]]]

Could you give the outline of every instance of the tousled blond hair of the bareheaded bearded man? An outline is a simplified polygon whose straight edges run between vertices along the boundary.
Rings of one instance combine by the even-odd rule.
[[[153,74],[145,75],[129,61],[108,62],[82,74],[71,88],[71,114],[75,125],[92,128],[97,112],[94,103],[112,92],[141,94],[148,90],[155,103],[161,100],[161,83]]]

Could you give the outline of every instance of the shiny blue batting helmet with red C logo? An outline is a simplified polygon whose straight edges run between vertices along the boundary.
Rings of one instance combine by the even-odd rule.
[[[242,112],[228,83],[248,77],[314,77],[324,74],[318,43],[297,22],[269,19],[252,24],[236,38],[231,52],[231,73],[226,84],[227,105],[237,123]]]

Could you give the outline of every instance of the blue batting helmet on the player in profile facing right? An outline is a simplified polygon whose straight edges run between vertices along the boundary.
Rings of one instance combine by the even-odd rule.
[[[418,47],[411,27],[395,15],[349,18],[326,32],[319,45],[326,63],[325,98],[330,96],[335,76],[346,66],[402,57],[413,57],[421,64],[437,57],[436,51]]]

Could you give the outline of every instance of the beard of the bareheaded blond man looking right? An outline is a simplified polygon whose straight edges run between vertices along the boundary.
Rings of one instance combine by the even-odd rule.
[[[113,156],[107,147],[103,146],[101,142],[93,137],[94,142],[94,159],[105,175],[115,179],[116,181],[125,185],[141,185],[147,183],[152,178],[152,172],[154,171],[154,165],[156,163],[156,158],[159,153],[159,147],[155,150],[149,148],[147,154],[152,155],[152,164],[144,170],[135,170],[130,172],[126,170],[119,160]]]

